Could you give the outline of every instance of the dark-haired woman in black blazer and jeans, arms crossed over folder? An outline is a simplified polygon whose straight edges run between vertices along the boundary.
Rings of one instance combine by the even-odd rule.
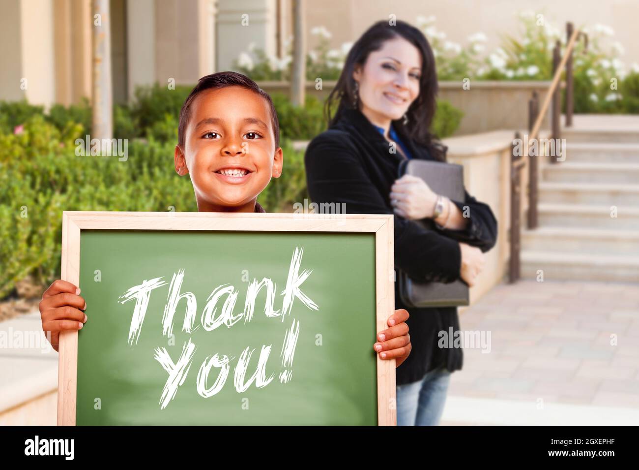
[[[468,192],[465,200],[450,201],[419,178],[397,179],[403,159],[445,161],[446,148],[429,132],[436,94],[433,51],[419,29],[401,21],[371,26],[353,45],[328,98],[329,129],[307,148],[307,184],[314,202],[345,203],[353,214],[395,214],[395,265],[411,278],[461,278],[472,286],[482,253],[497,237],[488,205]],[[424,218],[436,229],[413,222]],[[457,309],[410,308],[397,287],[395,299],[396,308],[410,313],[412,342],[396,369],[397,423],[436,425],[450,372],[462,365],[461,349],[438,347],[440,331],[459,330]]]

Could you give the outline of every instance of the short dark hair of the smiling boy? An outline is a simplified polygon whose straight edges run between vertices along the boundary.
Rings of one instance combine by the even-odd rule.
[[[217,72],[217,74],[206,75],[206,77],[199,79],[197,85],[193,88],[193,90],[191,90],[189,96],[182,105],[182,109],[180,110],[178,145],[180,145],[181,148],[184,148],[187,125],[189,124],[189,119],[191,117],[191,104],[197,95],[204,90],[215,90],[217,88],[226,88],[227,86],[241,86],[242,88],[258,93],[259,96],[266,100],[271,112],[271,124],[273,126],[273,136],[275,136],[275,148],[279,147],[279,120],[277,120],[277,113],[275,112],[273,100],[266,91],[259,88],[256,82],[252,81],[246,75],[238,74],[237,72]]]

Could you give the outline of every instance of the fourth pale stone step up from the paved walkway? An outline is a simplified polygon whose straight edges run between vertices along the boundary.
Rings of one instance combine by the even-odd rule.
[[[639,184],[541,182],[539,202],[639,207]]]

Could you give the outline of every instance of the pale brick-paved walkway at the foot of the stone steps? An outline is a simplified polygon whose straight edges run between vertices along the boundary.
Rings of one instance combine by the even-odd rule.
[[[460,322],[490,349],[465,348],[443,425],[639,424],[638,285],[504,283]]]

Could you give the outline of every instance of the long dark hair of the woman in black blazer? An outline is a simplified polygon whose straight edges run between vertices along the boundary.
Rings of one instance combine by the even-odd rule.
[[[419,78],[419,95],[406,111],[408,123],[404,125],[403,119],[399,119],[393,121],[393,127],[413,141],[426,146],[433,158],[445,161],[447,147],[436,141],[435,136],[430,132],[431,122],[437,107],[436,96],[438,92],[435,56],[422,32],[404,21],[398,20],[395,26],[391,26],[388,20],[378,21],[353,44],[337,84],[328,95],[325,104],[325,118],[328,125],[332,126],[341,118],[344,110],[354,109],[355,79],[353,79],[353,71],[358,66],[363,68],[371,52],[378,51],[383,43],[395,38],[404,38],[417,47],[422,56],[422,72]],[[337,110],[331,115],[335,104],[337,104]]]

